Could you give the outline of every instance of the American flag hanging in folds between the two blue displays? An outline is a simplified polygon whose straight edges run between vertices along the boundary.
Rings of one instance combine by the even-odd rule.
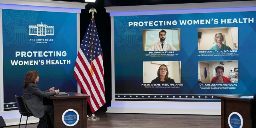
[[[93,16],[78,50],[74,77],[83,93],[90,95],[92,113],[106,103],[103,54]]]

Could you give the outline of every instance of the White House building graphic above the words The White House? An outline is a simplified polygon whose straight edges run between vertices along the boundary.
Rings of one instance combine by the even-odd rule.
[[[46,24],[36,24],[28,26],[29,35],[36,36],[53,36],[54,35],[54,26],[47,26]]]

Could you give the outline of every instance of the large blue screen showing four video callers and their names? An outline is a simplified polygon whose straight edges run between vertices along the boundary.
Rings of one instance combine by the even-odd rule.
[[[114,16],[115,100],[254,94],[256,12]]]

